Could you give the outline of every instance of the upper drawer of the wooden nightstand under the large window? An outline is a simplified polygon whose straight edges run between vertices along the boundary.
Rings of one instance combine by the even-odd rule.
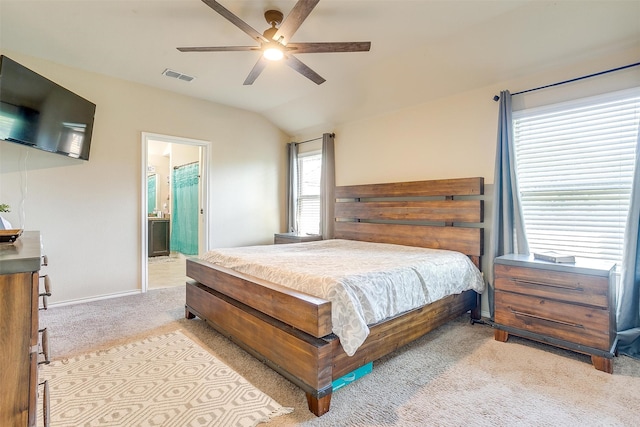
[[[495,265],[496,290],[609,308],[609,278]]]

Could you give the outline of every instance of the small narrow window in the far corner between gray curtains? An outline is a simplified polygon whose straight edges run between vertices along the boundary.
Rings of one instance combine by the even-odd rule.
[[[313,151],[298,155],[298,232],[320,234],[320,173],[322,153]]]

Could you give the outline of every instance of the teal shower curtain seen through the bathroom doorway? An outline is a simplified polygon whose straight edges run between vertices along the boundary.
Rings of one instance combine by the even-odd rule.
[[[174,168],[172,178],[171,250],[197,255],[198,163]]]

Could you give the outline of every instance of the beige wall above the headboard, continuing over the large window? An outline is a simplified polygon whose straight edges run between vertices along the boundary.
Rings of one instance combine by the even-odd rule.
[[[490,87],[335,127],[336,184],[483,176],[493,183],[500,90],[511,93],[635,63],[640,46],[572,67],[528,75]],[[425,84],[430,84],[425,82]],[[433,84],[437,84],[434,82]],[[640,86],[640,67],[513,97],[513,108],[560,102]],[[299,140],[313,137],[299,135]]]

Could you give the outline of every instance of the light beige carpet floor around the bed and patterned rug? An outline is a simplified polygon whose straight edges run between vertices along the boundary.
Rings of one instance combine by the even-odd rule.
[[[185,319],[184,295],[182,285],[50,305],[40,325],[54,360],[181,330],[295,409],[268,427],[640,426],[640,360],[620,355],[606,374],[579,353],[517,337],[495,341],[491,327],[470,324],[468,315],[376,360],[373,372],[333,393],[330,411],[316,417],[300,388],[206,322]]]

